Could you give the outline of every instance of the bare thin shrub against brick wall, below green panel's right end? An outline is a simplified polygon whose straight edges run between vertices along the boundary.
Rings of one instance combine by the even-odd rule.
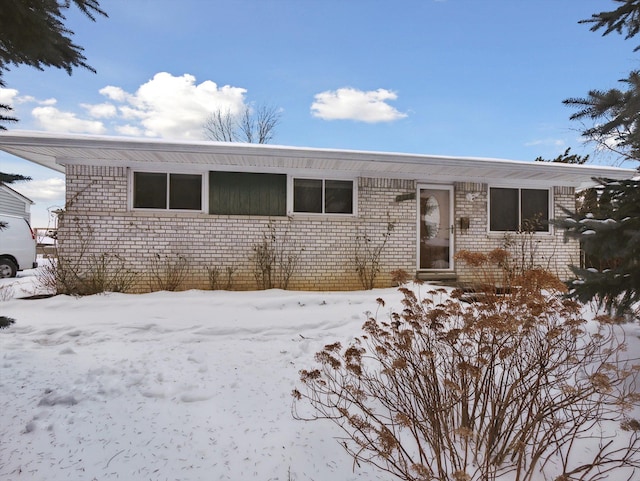
[[[280,232],[269,220],[262,239],[253,246],[253,275],[258,289],[287,289],[303,248],[289,236],[291,219]]]

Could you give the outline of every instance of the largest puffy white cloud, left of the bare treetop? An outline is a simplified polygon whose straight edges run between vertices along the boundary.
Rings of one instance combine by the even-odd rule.
[[[167,72],[157,73],[133,94],[112,85],[100,90],[121,104],[117,106],[119,116],[129,121],[116,127],[118,132],[178,139],[204,138],[207,117],[218,109],[240,112],[246,92],[230,85],[218,87],[211,80],[197,84],[193,75],[175,77]]]

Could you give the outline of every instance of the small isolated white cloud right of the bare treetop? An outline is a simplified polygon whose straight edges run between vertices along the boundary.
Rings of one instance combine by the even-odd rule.
[[[311,114],[324,120],[377,123],[393,122],[407,116],[387,103],[396,100],[398,95],[386,89],[363,91],[344,87],[320,92],[314,98]]]

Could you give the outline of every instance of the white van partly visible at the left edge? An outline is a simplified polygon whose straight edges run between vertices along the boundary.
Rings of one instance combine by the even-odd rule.
[[[23,217],[0,214],[0,278],[38,267],[36,236]]]

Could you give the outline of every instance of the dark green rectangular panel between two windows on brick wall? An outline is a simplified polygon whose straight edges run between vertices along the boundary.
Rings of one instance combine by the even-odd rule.
[[[246,172],[209,172],[209,213],[287,214],[287,176]]]

